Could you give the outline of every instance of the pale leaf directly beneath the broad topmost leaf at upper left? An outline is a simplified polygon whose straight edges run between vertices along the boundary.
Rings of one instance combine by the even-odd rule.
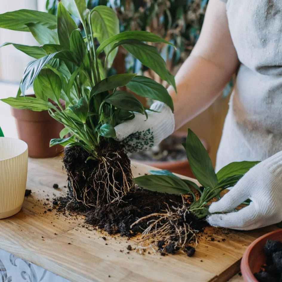
[[[28,23],[27,27],[39,44],[59,44],[56,31],[51,30],[42,24],[35,23]]]

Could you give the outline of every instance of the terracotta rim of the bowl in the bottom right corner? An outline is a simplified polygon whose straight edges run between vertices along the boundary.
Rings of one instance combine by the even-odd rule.
[[[244,252],[243,258],[241,260],[241,273],[244,278],[244,281],[248,282],[258,282],[258,280],[255,278],[254,274],[252,273],[252,270],[250,269],[249,266],[249,258],[250,258],[250,253],[252,249],[255,248],[255,246],[260,242],[265,240],[268,237],[271,237],[273,234],[276,233],[282,233],[282,229],[278,229],[269,233],[266,233],[265,235],[262,235],[261,237],[257,238],[255,241],[252,242]]]

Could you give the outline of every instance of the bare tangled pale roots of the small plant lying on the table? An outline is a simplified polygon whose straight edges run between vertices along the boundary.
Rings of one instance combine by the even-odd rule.
[[[142,232],[142,240],[136,249],[152,248],[154,251],[175,254],[185,252],[188,256],[195,253],[197,246],[197,233],[199,230],[193,227],[194,216],[189,212],[189,204],[182,196],[183,205],[181,207],[169,207],[168,204],[162,213],[152,213],[139,218],[130,227],[147,220],[147,228]]]

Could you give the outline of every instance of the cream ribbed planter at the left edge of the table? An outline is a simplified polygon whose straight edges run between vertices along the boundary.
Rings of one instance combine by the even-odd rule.
[[[21,210],[27,184],[27,144],[0,137],[0,219]]]

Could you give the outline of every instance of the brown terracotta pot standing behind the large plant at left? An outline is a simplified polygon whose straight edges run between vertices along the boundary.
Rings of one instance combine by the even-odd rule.
[[[28,95],[34,97],[34,95]],[[63,147],[49,147],[52,138],[59,138],[64,125],[53,119],[48,111],[33,112],[11,108],[16,119],[19,139],[28,145],[28,156],[31,158],[50,158],[58,155]]]

